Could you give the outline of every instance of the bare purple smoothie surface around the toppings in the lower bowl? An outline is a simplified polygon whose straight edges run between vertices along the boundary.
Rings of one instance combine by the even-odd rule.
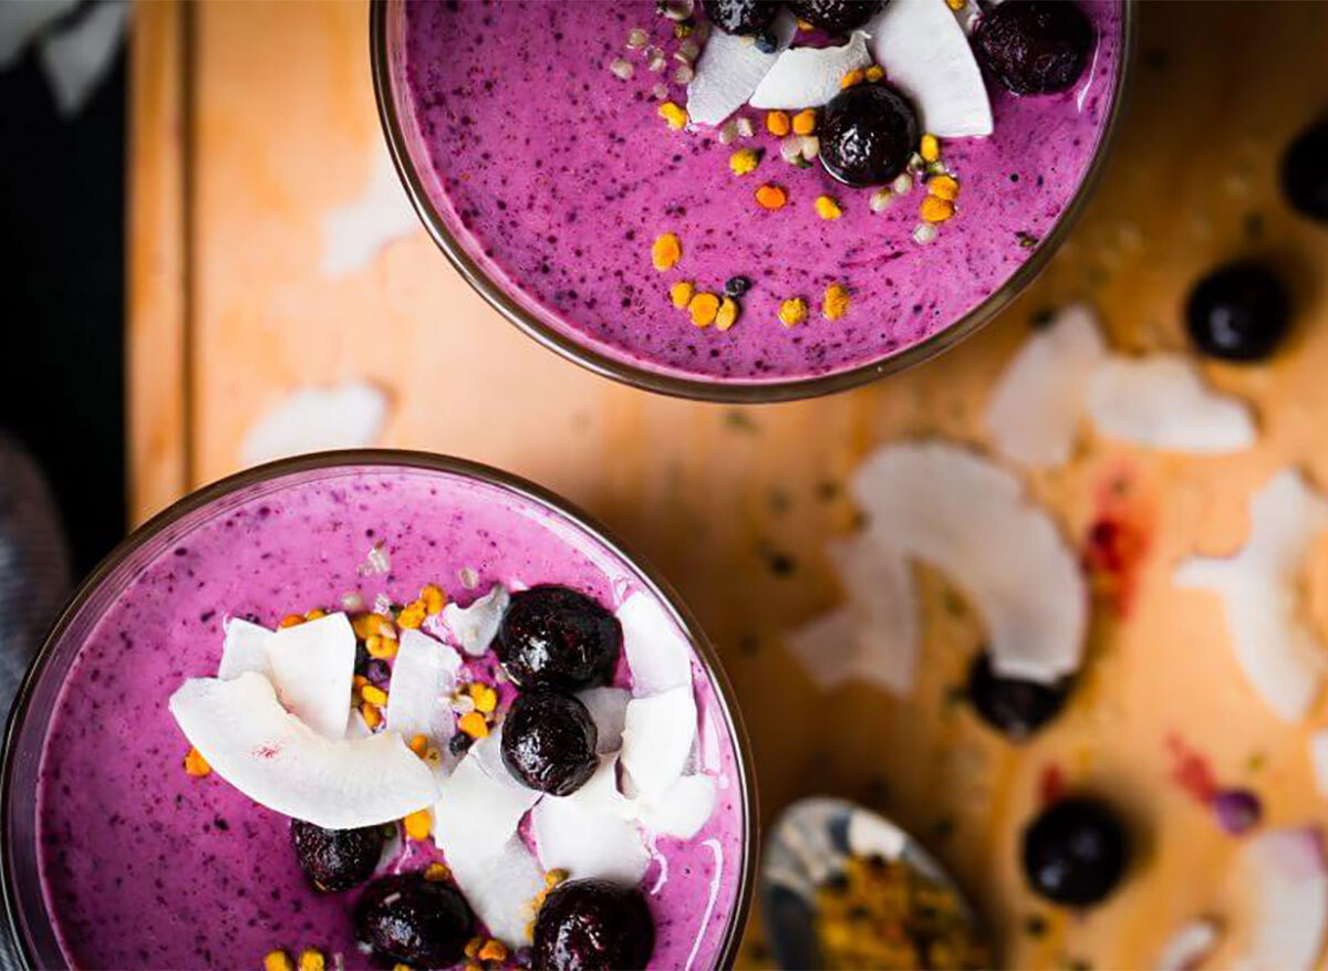
[[[390,572],[360,576],[374,543]],[[478,572],[473,589],[458,580],[467,568]],[[629,564],[547,507],[442,472],[303,474],[171,537],[93,629],[42,753],[41,873],[66,958],[80,967],[260,967],[274,947],[317,947],[368,967],[351,919],[359,891],[315,893],[286,817],[215,773],[186,775],[189,745],[166,700],[186,678],[215,673],[227,615],[275,626],[292,610],[336,609],[356,590],[371,604],[378,593],[409,601],[426,582],[466,604],[518,580],[567,584],[610,608],[643,588]],[[745,852],[733,738],[696,661],[693,675],[699,751],[718,800],[695,838],[657,840],[643,881],[660,968],[718,960]],[[412,844],[396,866],[437,857],[432,842]]]

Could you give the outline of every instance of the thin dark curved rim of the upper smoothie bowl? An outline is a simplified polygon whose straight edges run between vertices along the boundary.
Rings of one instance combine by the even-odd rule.
[[[406,149],[401,119],[397,117],[396,102],[392,98],[392,65],[388,58],[388,0],[369,3],[369,60],[373,74],[374,101],[378,105],[378,119],[386,138],[392,162],[401,176],[410,204],[424,223],[433,241],[446,255],[448,260],[461,273],[470,287],[479,293],[510,324],[534,338],[544,348],[560,354],[574,363],[602,377],[614,378],[648,391],[695,401],[724,402],[730,405],[760,405],[784,401],[799,401],[823,394],[845,391],[865,385],[887,374],[898,374],[930,361],[965,337],[985,326],[1000,310],[1027,288],[1045,269],[1052,255],[1060,249],[1074,223],[1082,215],[1105,168],[1106,157],[1120,130],[1121,117],[1129,94],[1129,81],[1134,74],[1134,52],[1138,44],[1138,0],[1121,0],[1121,50],[1120,66],[1116,72],[1116,85],[1112,90],[1112,111],[1102,134],[1098,138],[1093,158],[1084,178],[1080,179],[1069,204],[1061,211],[1052,231],[1042,237],[1033,255],[1016,269],[1009,279],[992,291],[967,314],[938,330],[931,337],[915,344],[898,354],[880,357],[867,363],[842,371],[819,374],[786,381],[706,381],[699,377],[659,371],[628,363],[610,354],[590,348],[555,328],[537,320],[534,314],[514,301],[479,265],[470,259],[456,236],[444,224],[442,216],[433,207],[425,191],[420,174]]]

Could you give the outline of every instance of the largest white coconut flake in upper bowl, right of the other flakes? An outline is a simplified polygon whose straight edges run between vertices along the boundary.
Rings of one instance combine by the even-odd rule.
[[[890,0],[863,29],[890,84],[918,106],[923,131],[938,138],[992,133],[983,72],[946,3]]]

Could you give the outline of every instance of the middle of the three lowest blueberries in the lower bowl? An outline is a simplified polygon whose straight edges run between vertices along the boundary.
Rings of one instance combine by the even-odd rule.
[[[356,937],[378,958],[412,967],[458,963],[474,923],[457,887],[418,873],[374,881],[355,907]]]

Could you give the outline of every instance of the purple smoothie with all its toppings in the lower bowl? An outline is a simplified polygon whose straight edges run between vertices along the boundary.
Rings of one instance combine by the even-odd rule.
[[[390,464],[288,474],[169,529],[41,755],[72,966],[558,967],[576,926],[615,966],[722,960],[741,755],[620,554],[506,487]]]

